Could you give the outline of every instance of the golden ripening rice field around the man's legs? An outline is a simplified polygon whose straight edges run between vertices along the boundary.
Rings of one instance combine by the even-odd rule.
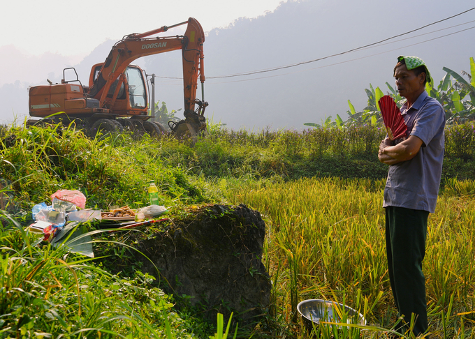
[[[386,264],[384,183],[338,178],[228,183],[231,202],[261,211],[268,224],[263,259],[274,283],[275,317],[290,322],[298,319],[298,302],[332,300],[358,309],[368,325],[359,334],[334,337],[386,337],[382,329],[391,329],[397,310]],[[436,338],[475,337],[474,193],[472,181],[446,183],[429,217],[423,270]],[[299,338],[307,335],[300,331]]]

